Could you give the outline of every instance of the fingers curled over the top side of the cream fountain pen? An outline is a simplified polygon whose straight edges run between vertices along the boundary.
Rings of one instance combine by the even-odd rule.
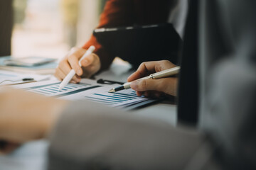
[[[172,64],[168,60],[161,60],[157,62],[142,62],[142,64],[139,65],[137,71],[128,77],[127,81],[134,81],[135,79],[146,77],[149,74],[161,72],[165,69],[170,69],[175,66],[175,64]]]

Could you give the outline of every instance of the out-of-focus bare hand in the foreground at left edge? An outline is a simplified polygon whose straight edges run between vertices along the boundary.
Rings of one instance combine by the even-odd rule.
[[[48,135],[68,101],[27,91],[0,88],[0,152]]]

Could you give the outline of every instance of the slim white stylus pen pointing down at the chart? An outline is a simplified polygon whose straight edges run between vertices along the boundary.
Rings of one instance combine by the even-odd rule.
[[[85,52],[85,55],[83,55],[78,64],[79,66],[81,67],[82,64],[81,64],[81,61],[87,57],[88,55],[92,54],[92,52],[95,50],[95,46],[90,46],[89,49]],[[59,91],[61,91],[65,86],[67,86],[67,84],[70,82],[70,80],[75,76],[75,70],[74,69],[71,69],[71,71],[68,73],[68,75],[65,77],[65,79],[63,79],[63,81],[60,83],[60,87],[59,87]]]

